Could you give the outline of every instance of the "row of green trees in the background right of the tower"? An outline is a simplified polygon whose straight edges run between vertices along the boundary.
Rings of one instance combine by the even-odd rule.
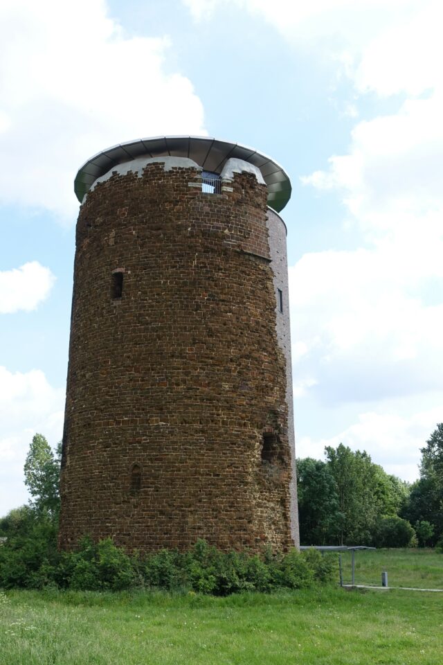
[[[443,546],[443,423],[421,449],[419,480],[388,475],[341,443],[298,460],[302,544]]]

